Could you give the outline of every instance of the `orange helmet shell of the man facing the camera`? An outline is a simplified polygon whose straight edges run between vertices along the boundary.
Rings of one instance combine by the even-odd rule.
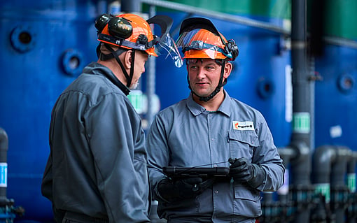
[[[224,41],[225,38],[224,36],[221,34],[222,38]],[[221,48],[222,50],[225,48],[225,45],[223,45],[221,37],[220,36],[216,36],[215,34],[213,34],[211,31],[208,31],[207,29],[200,29],[199,31],[197,31],[197,33],[190,39],[190,43],[193,43],[194,41],[196,42],[203,42],[203,43],[207,43],[210,45],[215,45],[218,48]],[[222,52],[217,51],[214,48],[204,48],[204,49],[190,49],[185,51],[184,53],[184,57],[185,59],[188,58],[208,58],[208,59],[225,59],[227,58],[226,55],[224,55]]]

